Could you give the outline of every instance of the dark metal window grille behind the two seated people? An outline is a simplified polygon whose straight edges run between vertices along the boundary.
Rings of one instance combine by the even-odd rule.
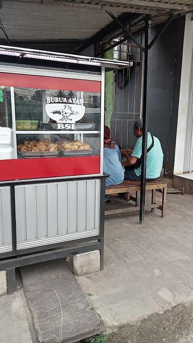
[[[114,59],[129,60],[131,66],[114,74],[114,103],[111,121],[113,139],[122,148],[133,145],[133,124],[142,116],[143,54],[133,43],[114,48]]]

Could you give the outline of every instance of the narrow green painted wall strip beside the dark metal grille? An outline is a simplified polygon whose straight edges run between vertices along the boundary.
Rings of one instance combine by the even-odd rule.
[[[113,60],[113,50],[105,53],[105,58]],[[113,114],[113,71],[105,73],[105,125],[111,127],[111,117]]]

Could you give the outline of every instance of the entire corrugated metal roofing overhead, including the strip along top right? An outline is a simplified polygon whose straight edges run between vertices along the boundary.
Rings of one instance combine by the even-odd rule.
[[[193,0],[0,0],[1,20],[14,40],[88,39],[112,23],[104,11],[153,18],[193,9]],[[0,32],[0,39],[5,38]]]

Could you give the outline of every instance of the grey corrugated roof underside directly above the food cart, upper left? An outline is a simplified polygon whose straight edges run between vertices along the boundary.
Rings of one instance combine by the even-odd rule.
[[[13,0],[5,0],[1,13],[10,41],[88,39],[112,22],[105,11]],[[5,38],[2,31],[0,38]]]

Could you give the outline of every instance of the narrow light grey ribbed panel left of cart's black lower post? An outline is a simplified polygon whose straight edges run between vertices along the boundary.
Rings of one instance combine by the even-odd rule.
[[[10,187],[0,187],[0,253],[12,250]]]

